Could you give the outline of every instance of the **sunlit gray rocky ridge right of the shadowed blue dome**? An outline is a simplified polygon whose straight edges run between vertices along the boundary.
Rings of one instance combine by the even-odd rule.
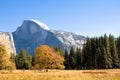
[[[86,38],[84,36],[80,36],[71,32],[56,30],[51,30],[51,32],[53,32],[56,37],[62,42],[62,44],[65,44],[67,46],[67,48],[70,48],[71,46],[74,46],[75,48],[82,48],[83,44],[86,41]]]

